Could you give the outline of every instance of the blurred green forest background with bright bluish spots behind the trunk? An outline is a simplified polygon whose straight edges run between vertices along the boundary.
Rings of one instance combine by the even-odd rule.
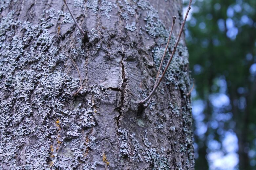
[[[256,0],[194,0],[185,33],[195,168],[256,169]]]

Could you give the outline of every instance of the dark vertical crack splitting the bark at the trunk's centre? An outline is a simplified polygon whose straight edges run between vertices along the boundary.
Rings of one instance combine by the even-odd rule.
[[[125,89],[126,89],[126,83],[127,83],[127,78],[125,78],[125,71],[124,71],[124,63],[123,63],[123,59],[124,59],[124,55],[122,56],[122,60],[121,60],[121,67],[122,67],[122,79],[123,79],[123,83],[122,83],[122,90],[121,90],[121,105],[120,107],[117,107],[117,111],[119,112],[119,115],[116,117],[117,120],[117,128],[120,127],[119,125],[119,119],[122,116],[122,107],[124,105],[124,94],[125,94]]]

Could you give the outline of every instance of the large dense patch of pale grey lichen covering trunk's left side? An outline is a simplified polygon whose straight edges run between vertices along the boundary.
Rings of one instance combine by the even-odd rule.
[[[86,162],[83,147],[96,147],[94,137],[85,144],[79,139],[83,128],[95,126],[93,105],[72,109],[79,79],[58,69],[67,57],[55,46],[47,30],[51,25],[44,18],[38,25],[14,21],[13,14],[10,11],[0,21],[0,169],[77,168]],[[58,18],[53,9],[41,16],[45,15]],[[74,121],[74,115],[80,118]],[[62,154],[63,149],[69,156]],[[17,159],[23,163],[17,165]]]

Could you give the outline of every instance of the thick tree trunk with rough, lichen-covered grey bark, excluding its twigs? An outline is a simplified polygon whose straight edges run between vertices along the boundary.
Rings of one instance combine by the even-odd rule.
[[[194,169],[184,41],[149,108],[136,104],[181,0],[68,4],[89,42],[62,0],[0,1],[0,169]]]

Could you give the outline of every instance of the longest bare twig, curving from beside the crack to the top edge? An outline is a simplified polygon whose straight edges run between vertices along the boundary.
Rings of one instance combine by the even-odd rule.
[[[164,77],[164,75],[165,75],[165,73],[166,73],[166,71],[167,71],[167,69],[168,69],[168,67],[169,67],[169,65],[170,65],[170,63],[171,63],[171,61],[172,61],[172,58],[173,58],[173,56],[174,56],[174,54],[175,54],[175,51],[176,51],[176,49],[177,49],[177,46],[178,46],[178,44],[179,44],[179,41],[180,41],[180,39],[181,39],[181,34],[182,34],[183,30],[184,30],[184,25],[185,25],[185,22],[186,22],[186,19],[187,19],[187,16],[188,16],[188,12],[189,12],[189,10],[191,9],[191,3],[192,3],[192,0],[189,1],[188,9],[187,9],[187,12],[186,12],[184,21],[183,21],[182,24],[181,24],[181,29],[180,29],[179,36],[178,36],[178,38],[177,38],[177,41],[176,41],[176,43],[175,43],[175,46],[174,46],[174,49],[173,49],[173,51],[172,51],[171,57],[170,57],[170,59],[169,59],[167,65],[166,65],[166,67],[165,67],[165,69],[164,69],[164,71],[163,71],[162,76],[160,77],[160,79],[159,79],[157,85],[153,88],[152,92],[151,92],[144,100],[139,101],[139,104],[143,104],[143,105],[144,105],[144,104],[153,96],[153,94],[156,92],[158,86],[160,85],[160,83],[161,83],[161,81],[162,81],[162,79],[163,79],[163,77]],[[145,105],[144,105],[144,107],[145,107]]]

